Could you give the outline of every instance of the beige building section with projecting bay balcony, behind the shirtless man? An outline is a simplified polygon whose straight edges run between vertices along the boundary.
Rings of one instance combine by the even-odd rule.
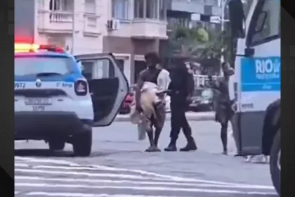
[[[119,28],[103,37],[103,51],[112,52],[132,84],[145,69],[144,54],[160,51],[166,36],[166,0],[105,0],[108,20]]]

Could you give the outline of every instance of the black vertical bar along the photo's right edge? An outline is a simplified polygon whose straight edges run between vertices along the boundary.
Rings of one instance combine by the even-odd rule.
[[[281,196],[293,197],[295,196],[295,15],[291,1],[289,3],[281,1],[281,6]]]

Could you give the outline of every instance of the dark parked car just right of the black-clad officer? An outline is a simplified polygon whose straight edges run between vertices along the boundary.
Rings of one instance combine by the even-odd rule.
[[[191,103],[188,110],[199,111],[212,111],[214,110],[214,91],[209,88],[197,88],[192,93]]]

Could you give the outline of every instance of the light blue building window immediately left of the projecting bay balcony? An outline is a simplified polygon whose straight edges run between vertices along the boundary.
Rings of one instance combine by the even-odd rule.
[[[129,19],[129,0],[112,0],[112,17]]]

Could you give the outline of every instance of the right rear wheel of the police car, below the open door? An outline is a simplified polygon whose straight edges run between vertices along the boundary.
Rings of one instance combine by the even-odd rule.
[[[81,134],[75,134],[72,141],[74,155],[87,157],[91,153],[92,147],[92,129]]]

